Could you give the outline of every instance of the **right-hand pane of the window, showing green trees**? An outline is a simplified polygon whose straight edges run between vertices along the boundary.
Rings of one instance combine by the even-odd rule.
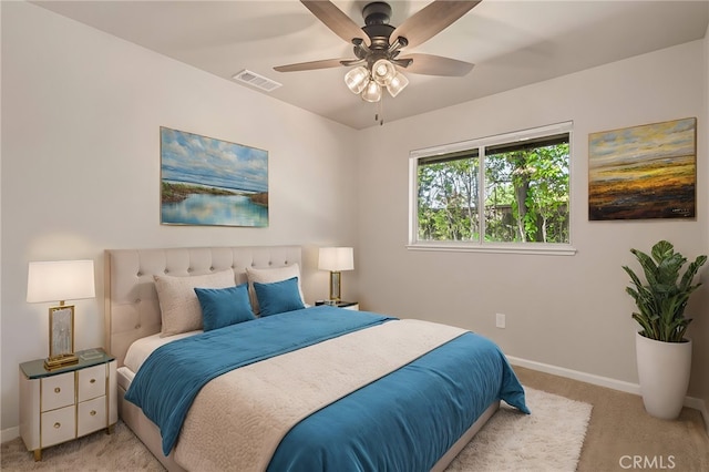
[[[485,240],[568,243],[568,134],[487,148]]]

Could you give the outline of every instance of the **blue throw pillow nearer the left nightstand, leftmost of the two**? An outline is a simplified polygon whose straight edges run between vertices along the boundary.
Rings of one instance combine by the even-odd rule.
[[[227,288],[195,288],[202,306],[202,325],[210,331],[256,319],[248,300],[247,284]]]

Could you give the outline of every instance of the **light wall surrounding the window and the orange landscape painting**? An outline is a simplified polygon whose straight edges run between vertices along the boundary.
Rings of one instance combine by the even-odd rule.
[[[661,238],[687,256],[707,250],[702,51],[696,41],[362,131],[370,145],[359,167],[360,300],[470,328],[513,357],[637,383],[634,305],[620,266],[634,263],[631,247],[647,250]],[[589,222],[588,134],[689,116],[699,117],[697,219]],[[575,256],[405,248],[411,150],[569,120]],[[692,310],[707,318],[697,304]],[[506,329],[495,328],[496,312],[506,315]],[[690,334],[709,342],[706,332]],[[707,371],[709,361],[696,359],[690,393],[701,394]]]

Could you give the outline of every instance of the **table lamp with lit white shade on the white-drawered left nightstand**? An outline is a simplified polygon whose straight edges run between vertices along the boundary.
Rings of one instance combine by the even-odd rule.
[[[30,263],[27,276],[27,301],[56,302],[49,309],[48,370],[79,362],[74,353],[74,306],[65,300],[95,297],[93,260]]]

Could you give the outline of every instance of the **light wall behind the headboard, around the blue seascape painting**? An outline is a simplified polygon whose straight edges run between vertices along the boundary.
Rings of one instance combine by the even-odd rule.
[[[103,343],[106,248],[304,244],[306,295],[327,296],[316,246],[356,243],[353,130],[39,7],[1,8],[2,430],[19,422],[18,365],[48,355],[30,260],[94,259],[78,349]],[[268,150],[270,226],[161,226],[160,126]]]

